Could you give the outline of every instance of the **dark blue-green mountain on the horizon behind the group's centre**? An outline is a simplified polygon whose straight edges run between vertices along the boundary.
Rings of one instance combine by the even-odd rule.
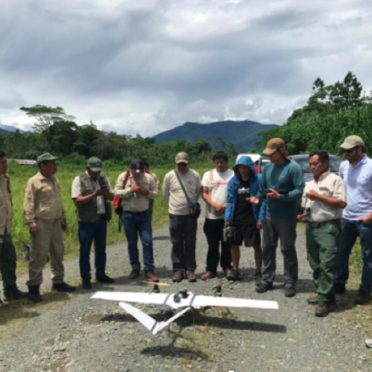
[[[259,133],[273,128],[279,128],[279,125],[260,124],[250,120],[228,120],[210,124],[188,122],[169,131],[161,132],[154,138],[156,142],[206,140],[213,145],[216,138],[222,137],[225,142],[233,143],[238,151],[248,151],[256,147],[256,142],[260,140]]]

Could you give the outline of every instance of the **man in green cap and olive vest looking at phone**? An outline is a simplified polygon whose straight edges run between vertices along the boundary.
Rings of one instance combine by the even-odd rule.
[[[111,219],[113,190],[109,179],[102,175],[102,161],[88,159],[86,171],[76,176],[71,188],[71,198],[76,206],[80,241],[80,275],[84,289],[92,288],[90,274],[90,248],[94,240],[96,279],[102,283],[115,283],[105,273],[107,222]]]

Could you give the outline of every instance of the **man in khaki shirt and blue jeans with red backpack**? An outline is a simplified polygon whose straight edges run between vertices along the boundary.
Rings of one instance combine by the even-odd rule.
[[[119,175],[114,190],[114,198],[122,199],[122,222],[128,240],[129,262],[132,266],[129,279],[140,276],[141,264],[137,246],[138,235],[140,235],[146,278],[153,282],[158,281],[154,273],[153,231],[148,213],[149,199],[156,199],[158,196],[153,177],[144,173],[143,160],[133,159],[129,173],[124,172]]]

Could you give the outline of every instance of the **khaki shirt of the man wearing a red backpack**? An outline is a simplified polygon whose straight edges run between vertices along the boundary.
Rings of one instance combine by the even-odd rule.
[[[159,193],[154,181],[154,178],[150,174],[143,173],[142,176],[134,180],[132,175],[124,186],[126,172],[119,175],[118,180],[115,185],[114,198],[122,199],[122,207],[124,211],[129,212],[144,212],[148,209],[148,199],[157,199]],[[145,195],[140,195],[138,193],[131,192],[131,187],[137,183],[142,189],[148,190],[150,193]]]

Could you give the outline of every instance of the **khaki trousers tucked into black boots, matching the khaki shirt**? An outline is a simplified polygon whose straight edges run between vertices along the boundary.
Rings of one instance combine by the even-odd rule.
[[[42,270],[47,263],[48,254],[50,255],[51,278],[54,284],[64,281],[63,267],[63,239],[61,219],[56,220],[37,220],[36,225],[38,234],[32,237],[32,248],[29,262],[28,286],[41,284],[43,281]]]

